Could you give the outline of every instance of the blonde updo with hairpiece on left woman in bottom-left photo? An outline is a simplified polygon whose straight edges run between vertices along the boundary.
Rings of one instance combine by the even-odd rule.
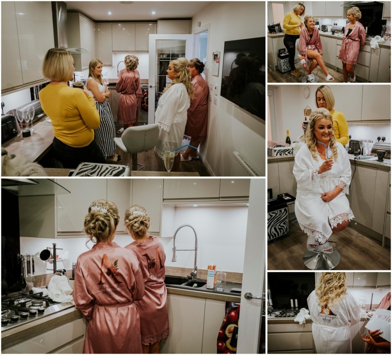
[[[84,217],[83,232],[93,242],[111,242],[119,221],[119,210],[113,202],[96,200]]]

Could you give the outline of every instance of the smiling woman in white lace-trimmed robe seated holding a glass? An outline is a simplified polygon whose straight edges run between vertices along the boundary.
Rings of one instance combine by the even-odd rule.
[[[297,180],[295,212],[308,235],[308,249],[331,253],[328,238],[346,228],[354,215],[346,197],[351,181],[350,161],[333,135],[333,118],[328,110],[319,108],[311,113],[293,174]]]

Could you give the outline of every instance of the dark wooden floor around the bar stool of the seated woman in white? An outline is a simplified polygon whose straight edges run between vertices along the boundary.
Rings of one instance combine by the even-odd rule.
[[[338,242],[341,261],[334,270],[390,270],[390,249],[352,227],[333,234]],[[307,235],[298,222],[289,223],[289,234],[268,242],[268,270],[309,270],[302,258],[306,252]]]

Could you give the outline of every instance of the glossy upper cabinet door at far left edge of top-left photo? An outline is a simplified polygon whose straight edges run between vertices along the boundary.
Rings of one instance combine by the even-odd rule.
[[[2,91],[23,84],[14,2],[2,2]]]

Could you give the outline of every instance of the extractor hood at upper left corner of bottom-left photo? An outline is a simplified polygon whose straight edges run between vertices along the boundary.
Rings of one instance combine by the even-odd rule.
[[[17,196],[43,196],[70,194],[50,179],[2,179],[2,189],[10,191]]]

